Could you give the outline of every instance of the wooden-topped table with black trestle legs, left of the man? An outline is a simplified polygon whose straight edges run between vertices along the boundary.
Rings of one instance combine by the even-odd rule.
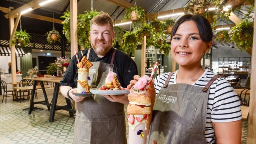
[[[31,101],[30,101],[30,107],[28,110],[28,114],[31,114],[32,110],[35,109],[34,104],[43,104],[46,105],[48,110],[50,111],[50,118],[49,121],[53,122],[54,121],[54,115],[55,115],[55,111],[58,110],[66,110],[69,111],[69,116],[74,116],[74,113],[76,113],[76,110],[72,109],[72,105],[71,102],[68,98],[66,99],[66,103],[67,105],[64,106],[58,106],[57,105],[57,99],[58,99],[58,93],[59,93],[59,83],[61,81],[62,78],[58,78],[58,77],[40,77],[40,78],[24,78],[24,79],[28,79],[28,80],[33,80],[33,90],[32,90],[32,96],[31,96]],[[41,101],[41,102],[34,102],[34,96],[35,96],[35,89],[36,89],[36,83],[37,81],[40,82],[42,90],[43,90],[43,94],[45,96],[45,101]],[[53,96],[52,96],[52,104],[50,104],[48,102],[48,98],[45,92],[45,86],[43,81],[48,81],[48,82],[54,82],[54,92],[53,92]],[[50,109],[50,107],[52,109]]]

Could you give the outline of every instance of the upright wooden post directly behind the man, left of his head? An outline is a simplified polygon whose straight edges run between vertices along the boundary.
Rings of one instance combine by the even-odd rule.
[[[70,53],[71,57],[78,52],[77,41],[77,0],[70,0]]]

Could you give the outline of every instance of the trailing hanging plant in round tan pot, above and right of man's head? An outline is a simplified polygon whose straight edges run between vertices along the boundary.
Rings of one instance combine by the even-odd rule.
[[[140,29],[146,22],[144,9],[137,6],[126,9],[126,13],[122,21],[126,21],[129,18],[133,21],[132,28],[134,28],[134,30]]]

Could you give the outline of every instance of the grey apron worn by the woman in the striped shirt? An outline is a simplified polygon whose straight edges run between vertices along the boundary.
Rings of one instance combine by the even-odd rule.
[[[156,96],[148,144],[207,144],[205,125],[210,85],[206,87],[189,84],[168,85],[173,73]]]

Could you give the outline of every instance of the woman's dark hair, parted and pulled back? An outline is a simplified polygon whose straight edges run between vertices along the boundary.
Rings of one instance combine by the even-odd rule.
[[[173,30],[171,33],[171,40],[173,38],[173,35],[175,35],[176,31],[178,30],[180,24],[189,20],[193,20],[196,23],[197,29],[199,31],[199,35],[202,41],[204,42],[212,41],[213,33],[212,33],[210,22],[201,15],[184,15],[180,19],[178,19],[178,21],[173,26]]]

